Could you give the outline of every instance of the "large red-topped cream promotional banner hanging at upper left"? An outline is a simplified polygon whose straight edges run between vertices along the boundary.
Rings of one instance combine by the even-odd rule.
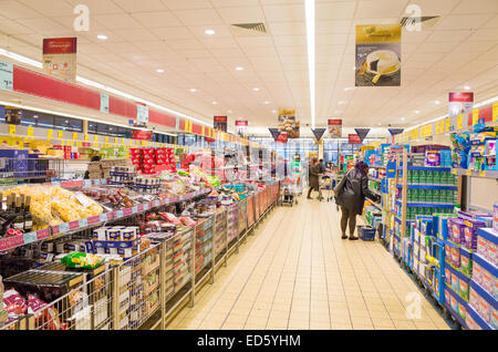
[[[64,81],[76,81],[76,38],[43,39],[43,71]]]

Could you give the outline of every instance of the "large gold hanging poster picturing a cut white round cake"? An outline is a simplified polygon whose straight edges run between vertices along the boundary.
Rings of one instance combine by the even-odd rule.
[[[401,24],[356,25],[356,86],[401,85]]]

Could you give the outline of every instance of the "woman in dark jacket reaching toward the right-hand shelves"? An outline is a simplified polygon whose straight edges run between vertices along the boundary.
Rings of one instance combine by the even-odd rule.
[[[341,231],[342,239],[346,239],[346,227],[350,225],[350,239],[355,240],[354,229],[356,228],[356,215],[363,213],[365,197],[378,201],[380,196],[369,189],[369,165],[359,162],[345,177],[343,187],[335,195],[335,203],[341,206]]]

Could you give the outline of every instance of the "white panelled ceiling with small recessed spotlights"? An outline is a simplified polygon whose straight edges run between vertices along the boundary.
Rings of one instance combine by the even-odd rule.
[[[465,85],[477,101],[498,95],[497,0],[315,2],[318,126],[330,117],[416,124],[445,114],[447,93]],[[402,86],[345,91],[354,87],[355,25],[400,22],[411,2],[442,18],[429,30],[403,30]],[[73,30],[79,3],[90,8],[90,32]],[[281,106],[310,123],[304,0],[0,0],[0,48],[41,61],[43,38],[77,37],[86,79],[206,122],[224,114],[271,126]],[[229,24],[247,22],[264,22],[269,34],[231,33]]]

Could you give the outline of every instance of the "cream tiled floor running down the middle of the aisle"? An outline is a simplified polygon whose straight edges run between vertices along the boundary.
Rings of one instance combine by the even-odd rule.
[[[332,203],[279,207],[168,329],[449,329],[377,242],[342,240]]]

